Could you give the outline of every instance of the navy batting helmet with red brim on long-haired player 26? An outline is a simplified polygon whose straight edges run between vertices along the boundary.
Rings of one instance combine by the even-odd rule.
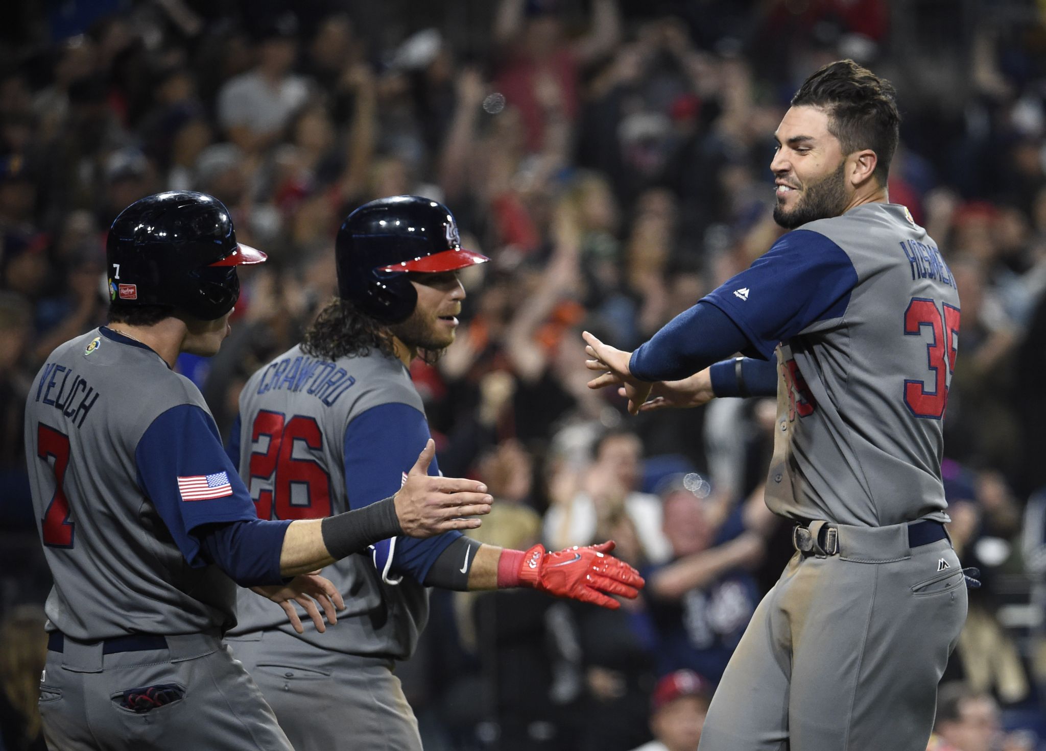
[[[453,272],[490,260],[461,248],[450,209],[417,195],[379,198],[349,214],[335,258],[338,295],[390,324],[407,320],[417,303],[409,272]]]

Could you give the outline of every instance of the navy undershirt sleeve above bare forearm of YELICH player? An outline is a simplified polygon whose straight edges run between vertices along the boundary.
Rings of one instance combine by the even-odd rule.
[[[290,521],[228,521],[194,531],[201,555],[241,587],[282,584],[279,558]]]

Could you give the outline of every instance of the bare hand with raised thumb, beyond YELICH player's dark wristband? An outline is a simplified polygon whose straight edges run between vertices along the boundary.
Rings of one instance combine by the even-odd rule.
[[[395,494],[393,502],[400,526],[403,534],[410,537],[432,537],[449,530],[475,530],[480,520],[462,517],[491,513],[494,498],[487,495],[482,483],[428,474],[435,453],[436,444],[430,438],[407,474],[407,482]]]

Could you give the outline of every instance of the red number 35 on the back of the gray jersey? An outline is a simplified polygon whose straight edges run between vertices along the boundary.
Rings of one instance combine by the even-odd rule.
[[[955,371],[959,346],[959,309],[945,303],[942,308],[927,298],[912,298],[905,310],[905,335],[920,336],[930,329],[926,346],[927,366],[933,371],[932,388],[928,381],[905,379],[905,404],[915,417],[939,420],[948,404],[948,386]]]

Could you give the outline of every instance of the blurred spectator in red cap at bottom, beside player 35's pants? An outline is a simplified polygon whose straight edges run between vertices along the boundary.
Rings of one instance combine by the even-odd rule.
[[[651,698],[654,740],[635,751],[698,751],[712,686],[693,671],[669,673]]]

